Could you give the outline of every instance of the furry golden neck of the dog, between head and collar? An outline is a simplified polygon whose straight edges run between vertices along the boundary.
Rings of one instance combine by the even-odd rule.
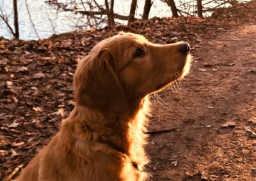
[[[130,112],[125,115],[113,115],[84,106],[75,106],[69,120],[79,122],[78,129],[81,129],[84,134],[97,135],[95,136],[97,141],[129,156],[132,147],[135,147],[134,143],[137,142],[135,139],[138,136],[143,137],[148,103],[148,98],[143,99],[140,103],[134,104]]]

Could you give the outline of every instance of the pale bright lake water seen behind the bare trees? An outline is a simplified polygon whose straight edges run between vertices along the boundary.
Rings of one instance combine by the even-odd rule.
[[[44,0],[17,0],[19,10],[19,33],[22,40],[37,40],[38,38],[49,38],[52,34],[60,34],[76,29],[76,24],[84,24],[84,18],[81,15],[74,15],[70,12],[56,13],[56,8],[44,2]],[[35,30],[29,20],[28,10],[31,14],[31,20],[35,24]],[[66,0],[63,0],[64,2]],[[203,1],[203,4],[208,0]],[[210,1],[210,0],[209,0]],[[0,0],[1,10],[8,17],[10,25],[13,25],[13,0]],[[61,2],[61,0],[59,0]],[[104,1],[102,1],[104,2]],[[141,17],[143,13],[144,1],[138,1],[136,17]],[[179,3],[176,4],[179,6]],[[212,4],[211,4],[212,5]],[[128,15],[131,0],[115,0],[114,12],[121,15]],[[160,0],[155,0],[150,10],[151,17],[172,17],[170,7]],[[0,18],[0,36],[12,38],[6,24]]]

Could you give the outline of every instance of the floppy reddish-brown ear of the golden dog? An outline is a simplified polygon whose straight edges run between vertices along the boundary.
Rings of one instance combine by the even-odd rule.
[[[125,92],[116,74],[110,50],[89,54],[77,65],[74,75],[76,104],[109,113],[123,113]]]

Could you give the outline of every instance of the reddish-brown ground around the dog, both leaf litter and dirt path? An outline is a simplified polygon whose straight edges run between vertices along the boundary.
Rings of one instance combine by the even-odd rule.
[[[194,61],[180,89],[152,96],[150,180],[256,180],[256,1],[215,18],[154,18],[21,41],[0,38],[0,180],[26,166],[74,107],[79,59],[118,31],[187,41]],[[14,175],[17,176],[18,173]]]

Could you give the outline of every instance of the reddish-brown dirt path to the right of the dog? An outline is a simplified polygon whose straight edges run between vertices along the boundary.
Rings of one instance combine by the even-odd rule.
[[[152,180],[256,180],[256,26],[202,37],[192,47],[180,93],[166,89],[152,98],[149,129],[177,127],[148,140]],[[225,122],[236,126],[221,127]]]

